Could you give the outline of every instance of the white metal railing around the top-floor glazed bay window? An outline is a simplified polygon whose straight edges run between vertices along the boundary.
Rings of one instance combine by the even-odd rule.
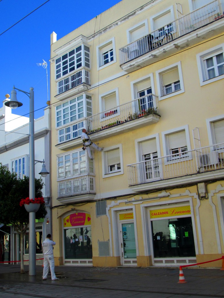
[[[90,85],[90,71],[82,67],[75,72],[57,80],[57,94],[67,91],[73,87],[76,87],[82,83]]]

